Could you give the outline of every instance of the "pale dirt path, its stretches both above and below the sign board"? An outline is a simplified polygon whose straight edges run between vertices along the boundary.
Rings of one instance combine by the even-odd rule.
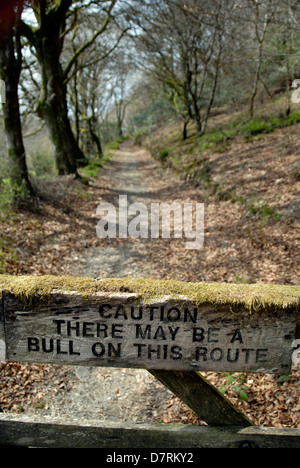
[[[127,195],[129,204],[149,203],[150,181],[140,171],[140,166],[145,165],[144,156],[145,152],[130,142],[122,145],[105,170],[105,178],[113,181],[107,201],[117,205],[119,195]],[[149,276],[147,244],[108,241],[101,247],[87,248],[72,274],[94,278]],[[145,370],[78,367],[68,393],[49,402],[44,413],[52,417],[71,415],[85,421],[150,422],[165,411],[170,397],[171,393]]]

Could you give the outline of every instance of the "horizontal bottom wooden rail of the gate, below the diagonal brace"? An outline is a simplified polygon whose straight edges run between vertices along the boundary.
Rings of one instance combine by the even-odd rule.
[[[0,415],[0,446],[47,448],[299,448],[297,429],[129,424]],[[188,451],[188,450],[187,450]]]

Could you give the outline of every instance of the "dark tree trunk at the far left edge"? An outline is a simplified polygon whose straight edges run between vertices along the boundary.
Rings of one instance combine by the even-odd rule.
[[[11,177],[17,186],[33,194],[29,180],[22,137],[18,84],[22,57],[18,34],[18,17],[22,1],[6,2],[0,7],[0,76],[5,83],[3,102],[4,132],[7,140]]]

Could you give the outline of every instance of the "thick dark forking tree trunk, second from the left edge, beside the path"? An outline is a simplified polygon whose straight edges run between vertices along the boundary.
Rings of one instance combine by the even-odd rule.
[[[60,175],[77,174],[77,168],[87,162],[71,128],[67,85],[60,63],[71,3],[71,0],[61,0],[49,6],[40,0],[34,6],[38,28],[22,23],[22,33],[35,48],[41,68],[42,89],[37,112],[47,126]]]

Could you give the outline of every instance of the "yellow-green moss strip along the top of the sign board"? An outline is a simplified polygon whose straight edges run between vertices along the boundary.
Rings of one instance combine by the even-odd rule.
[[[184,283],[134,278],[95,281],[92,278],[0,275],[1,296],[3,291],[26,303],[42,301],[53,291],[61,291],[77,292],[85,299],[98,292],[133,293],[145,302],[166,296],[174,300],[187,298],[198,306],[207,303],[242,306],[250,312],[269,307],[300,307],[300,286],[266,284]]]

